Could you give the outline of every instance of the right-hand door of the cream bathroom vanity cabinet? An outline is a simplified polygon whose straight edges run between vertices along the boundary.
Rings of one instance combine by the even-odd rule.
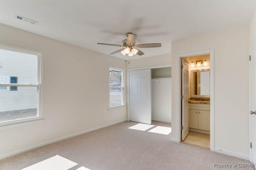
[[[198,110],[198,129],[210,131],[210,111]]]

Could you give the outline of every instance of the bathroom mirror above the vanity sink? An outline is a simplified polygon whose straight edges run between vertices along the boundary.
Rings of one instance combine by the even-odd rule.
[[[191,70],[190,96],[210,97],[210,69]]]

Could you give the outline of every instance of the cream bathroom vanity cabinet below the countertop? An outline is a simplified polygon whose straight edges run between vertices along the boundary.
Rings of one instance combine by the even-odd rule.
[[[210,131],[210,104],[189,104],[189,122],[188,127],[192,128],[191,131],[196,131],[195,129],[200,129],[202,133],[207,133],[204,131]],[[198,131],[199,132],[199,131]]]

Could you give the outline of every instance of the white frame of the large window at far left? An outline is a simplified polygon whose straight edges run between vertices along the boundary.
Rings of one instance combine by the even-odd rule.
[[[20,53],[27,53],[37,56],[37,84],[11,84],[10,81],[6,84],[0,84],[0,86],[23,86],[23,87],[37,87],[37,117],[28,117],[23,119],[16,119],[16,120],[10,120],[10,121],[4,121],[0,122],[0,127],[6,126],[6,125],[13,125],[17,123],[24,123],[24,122],[30,122],[30,121],[38,121],[42,120],[42,53],[38,51],[32,51],[28,49],[22,49],[18,47],[11,47],[8,45],[2,45],[0,44],[0,49],[8,50],[8,51],[15,51]]]

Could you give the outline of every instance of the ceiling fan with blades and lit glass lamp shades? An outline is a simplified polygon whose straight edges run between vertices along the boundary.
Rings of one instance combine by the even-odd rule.
[[[111,46],[117,46],[117,47],[125,47],[123,49],[120,49],[118,51],[115,51],[111,54],[116,53],[122,53],[122,55],[128,55],[129,57],[132,57],[133,55],[144,55],[144,53],[137,48],[153,48],[153,47],[161,47],[161,43],[151,43],[151,44],[138,44],[135,45],[135,40],[137,35],[133,33],[126,33],[127,39],[124,39],[122,41],[123,45],[115,45],[115,44],[105,44],[105,43],[97,43],[99,45],[111,45]]]

